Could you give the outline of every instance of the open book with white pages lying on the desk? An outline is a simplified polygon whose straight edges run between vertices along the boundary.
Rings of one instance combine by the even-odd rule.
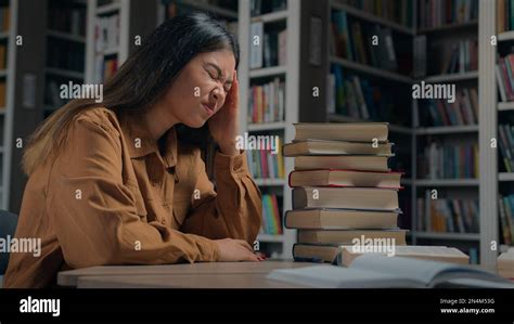
[[[267,277],[317,288],[514,288],[501,276],[470,265],[376,254],[356,258],[349,268],[278,269]]]

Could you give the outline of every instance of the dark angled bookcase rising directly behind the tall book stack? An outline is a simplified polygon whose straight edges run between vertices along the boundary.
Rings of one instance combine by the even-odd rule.
[[[371,3],[371,2],[370,2]],[[368,3],[368,4],[370,4]],[[385,64],[382,64],[377,59],[371,60],[371,62],[362,62],[358,61],[357,57],[350,57],[348,53],[345,51],[340,51],[337,49],[338,42],[340,41],[340,35],[345,35],[347,33],[348,36],[344,37],[346,39],[351,38],[352,44],[350,47],[354,48],[354,53],[358,53],[360,50],[357,48],[359,47],[360,41],[355,41],[355,39],[362,38],[362,43],[368,56],[373,57],[373,55],[377,55],[381,52],[381,49],[377,47],[368,47],[369,39],[365,37],[371,37],[370,35],[382,35],[376,33],[375,30],[383,30],[389,29],[390,34],[389,37],[391,38],[393,42],[395,42],[394,47],[397,48],[410,48],[412,47],[412,38],[414,35],[414,29],[411,27],[412,21],[407,20],[407,16],[413,11],[414,8],[407,4],[402,8],[403,11],[403,23],[394,22],[390,17],[380,16],[377,15],[375,9],[376,8],[365,8],[368,5],[363,3],[363,8],[357,8],[358,3],[351,3],[351,1],[342,1],[342,0],[331,0],[327,1],[327,20],[330,24],[327,24],[326,35],[329,35],[330,39],[327,41],[327,62],[330,69],[327,75],[327,89],[330,87],[334,87],[333,90],[329,90],[329,95],[334,95],[334,93],[338,92],[340,89],[344,89],[345,95],[350,96],[350,87],[340,86],[340,81],[333,80],[333,79],[351,79],[356,78],[356,76],[360,80],[360,86],[362,90],[360,92],[365,91],[364,82],[369,82],[372,85],[373,89],[380,89],[380,92],[393,92],[393,96],[395,99],[389,99],[389,104],[394,104],[395,108],[390,109],[387,105],[380,106],[376,105],[375,109],[377,111],[388,111],[387,114],[373,114],[373,108],[368,112],[371,119],[365,118],[364,114],[359,114],[359,116],[355,116],[356,114],[351,113],[350,103],[348,101],[345,104],[337,102],[335,103],[327,103],[327,113],[325,121],[329,122],[361,122],[361,121],[387,121],[389,122],[389,131],[390,135],[389,139],[395,142],[396,145],[396,154],[397,156],[391,159],[394,164],[394,169],[404,171],[406,174],[402,177],[401,184],[404,186],[403,191],[400,191],[399,197],[402,206],[401,209],[403,210],[403,215],[400,216],[399,223],[400,226],[411,228],[413,220],[409,213],[409,210],[412,209],[409,205],[413,199],[413,184],[414,181],[412,180],[412,174],[414,174],[414,165],[411,158],[411,152],[415,151],[415,146],[413,146],[414,139],[415,139],[415,129],[412,127],[412,100],[409,99],[407,95],[401,95],[408,93],[410,91],[411,85],[413,82],[413,78],[410,74],[411,66],[409,66],[406,70],[406,67],[397,66],[397,68],[387,68]],[[358,27],[356,27],[358,26]],[[378,26],[378,27],[375,27]],[[336,29],[337,31],[335,31]],[[360,37],[359,34],[362,30],[363,37]],[[340,31],[340,33],[339,33]],[[382,40],[388,37],[387,34]],[[365,38],[365,39],[364,39]],[[396,42],[397,41],[397,42]],[[335,49],[334,49],[335,47]],[[348,48],[346,46],[345,48]],[[375,53],[375,54],[373,54]],[[383,52],[381,52],[383,53]],[[400,54],[397,52],[397,54]],[[385,54],[387,55],[387,54]],[[401,52],[401,55],[404,55],[404,52]],[[357,55],[352,55],[357,56]],[[402,59],[407,59],[407,62],[410,62],[412,65],[412,56]],[[368,60],[370,61],[370,60]],[[397,62],[398,63],[398,62]],[[331,76],[331,74],[333,76]],[[340,77],[338,77],[339,75]],[[335,86],[334,86],[335,83]],[[357,82],[359,83],[359,82]],[[339,85],[339,86],[337,86]],[[401,89],[401,90],[398,90]],[[359,90],[357,90],[359,93]],[[401,102],[398,103],[396,100],[401,98]],[[387,100],[387,99],[386,99]],[[369,102],[367,102],[367,106],[369,106]],[[401,107],[402,108],[401,108]],[[354,116],[351,116],[354,115]],[[373,117],[374,115],[374,117]],[[396,118],[398,116],[402,116],[402,118]],[[409,235],[411,238],[412,235]]]

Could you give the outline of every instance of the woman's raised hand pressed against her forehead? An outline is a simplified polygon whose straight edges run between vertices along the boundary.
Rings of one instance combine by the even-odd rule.
[[[218,143],[224,155],[237,155],[240,151],[235,147],[235,138],[240,131],[240,93],[237,72],[234,72],[232,87],[227,93],[223,106],[208,120],[209,131],[213,139]]]

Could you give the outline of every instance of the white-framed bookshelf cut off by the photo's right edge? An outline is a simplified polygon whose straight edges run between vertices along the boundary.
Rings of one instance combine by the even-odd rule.
[[[506,126],[512,127],[512,125],[514,125],[514,115],[512,114],[514,112],[514,104],[512,98],[504,98],[509,96],[509,92],[505,90],[506,83],[504,76],[512,77],[512,72],[502,73],[502,65],[504,67],[509,64],[509,62],[506,62],[509,54],[513,52],[514,22],[512,12],[506,8],[507,1],[496,1],[494,4],[496,5],[490,5],[491,8],[488,8],[484,12],[484,37],[494,35],[498,43],[496,46],[489,44],[483,49],[483,51],[487,53],[484,73],[486,69],[488,72],[485,75],[486,78],[484,81],[491,82],[491,85],[484,87],[483,93],[484,104],[496,107],[496,112],[484,116],[486,132],[483,137],[483,142],[484,145],[488,145],[486,147],[489,154],[480,156],[484,161],[488,163],[488,170],[480,182],[480,185],[487,185],[488,194],[484,193],[481,198],[485,204],[488,204],[488,208],[490,208],[488,209],[489,212],[492,216],[497,216],[493,217],[487,229],[490,233],[488,237],[489,242],[497,242],[499,246],[496,250],[489,252],[488,258],[491,263],[496,262],[496,258],[500,252],[506,251],[509,247],[514,246],[512,242],[512,238],[514,238],[512,237],[512,233],[514,233],[512,229],[514,222],[511,221],[510,224],[507,222],[510,217],[509,211],[512,210],[512,207],[510,208],[509,205],[509,197],[514,194],[514,173],[507,169],[509,161],[504,161],[505,158],[509,159],[506,151],[512,150],[512,143],[506,142],[507,139],[505,138],[509,134],[509,128],[506,128]],[[499,70],[496,70],[497,67]],[[494,73],[497,73],[497,75],[494,75]],[[506,93],[506,95],[502,92]],[[496,150],[491,147],[491,139],[498,140]],[[511,220],[514,219],[511,217]],[[504,233],[504,231],[507,233]],[[511,235],[509,235],[509,233]],[[511,242],[505,241],[509,238],[506,236],[511,236]]]

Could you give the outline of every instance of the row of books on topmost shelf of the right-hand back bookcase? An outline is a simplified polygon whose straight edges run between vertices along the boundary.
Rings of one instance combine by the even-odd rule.
[[[424,0],[417,3],[417,22],[422,29],[478,20],[478,0]]]

